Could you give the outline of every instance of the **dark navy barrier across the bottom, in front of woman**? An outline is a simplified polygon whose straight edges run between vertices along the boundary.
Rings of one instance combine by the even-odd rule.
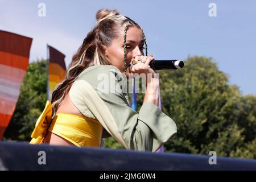
[[[256,170],[256,160],[0,142],[1,170]]]

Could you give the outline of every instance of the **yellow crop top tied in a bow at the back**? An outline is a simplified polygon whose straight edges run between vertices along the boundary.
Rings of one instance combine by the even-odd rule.
[[[41,144],[47,131],[51,131],[77,147],[100,147],[103,127],[97,119],[69,113],[57,113],[51,119],[51,115],[52,105],[47,101],[31,134],[30,144]]]

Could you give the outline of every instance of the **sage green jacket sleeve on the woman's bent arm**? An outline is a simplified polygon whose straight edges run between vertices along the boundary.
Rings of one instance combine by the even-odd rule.
[[[98,96],[105,102],[110,113],[113,115],[117,124],[118,131],[123,140],[131,150],[156,151],[167,140],[176,134],[175,122],[163,113],[158,106],[151,102],[143,102],[139,113],[129,106],[126,100],[128,93],[123,93],[125,79],[120,76],[121,72],[113,66],[101,67],[94,74],[101,74],[99,79],[97,74],[94,76],[84,76],[96,90]],[[102,74],[103,73],[103,74]],[[97,77],[97,80],[96,80]],[[102,89],[105,85],[108,89]]]

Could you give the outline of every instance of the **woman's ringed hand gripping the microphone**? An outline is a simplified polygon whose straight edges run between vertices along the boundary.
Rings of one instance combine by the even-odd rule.
[[[155,71],[149,65],[151,61],[155,60],[153,56],[136,56],[134,60],[137,63],[133,64],[133,67],[130,69],[131,73],[138,73],[139,75],[141,73],[152,73],[154,75]]]

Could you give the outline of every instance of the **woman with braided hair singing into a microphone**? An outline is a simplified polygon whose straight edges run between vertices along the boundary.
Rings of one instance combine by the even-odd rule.
[[[102,138],[112,136],[127,150],[156,151],[174,137],[176,125],[158,107],[159,78],[150,68],[154,57],[147,56],[143,30],[116,10],[99,10],[96,18],[30,143],[100,147]],[[123,92],[126,78],[135,73],[150,75],[139,113]]]

